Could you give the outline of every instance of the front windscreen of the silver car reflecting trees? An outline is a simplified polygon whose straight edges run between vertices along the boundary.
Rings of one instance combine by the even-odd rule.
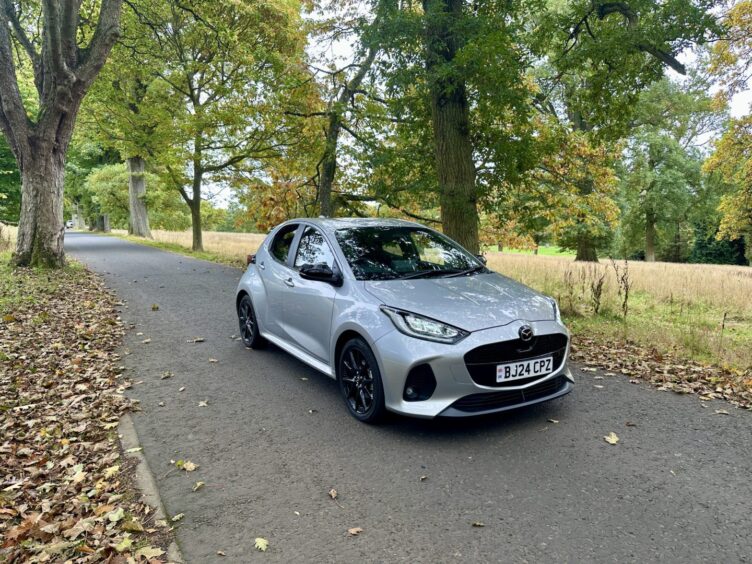
[[[358,280],[462,276],[483,264],[451,239],[420,227],[338,229],[337,241]]]

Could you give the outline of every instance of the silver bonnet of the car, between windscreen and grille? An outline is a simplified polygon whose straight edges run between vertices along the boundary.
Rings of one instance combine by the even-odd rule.
[[[499,327],[518,319],[555,319],[548,298],[496,273],[368,281],[365,288],[385,305],[425,315],[466,331]]]

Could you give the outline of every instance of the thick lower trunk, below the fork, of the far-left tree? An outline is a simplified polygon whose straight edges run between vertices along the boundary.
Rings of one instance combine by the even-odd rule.
[[[63,180],[65,155],[41,147],[19,160],[21,218],[18,224],[16,266],[59,268],[65,264],[63,241]]]

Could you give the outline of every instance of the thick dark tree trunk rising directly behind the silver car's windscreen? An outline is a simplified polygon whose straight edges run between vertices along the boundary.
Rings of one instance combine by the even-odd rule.
[[[465,82],[448,72],[462,44],[453,25],[463,0],[424,0],[427,18],[426,67],[431,81],[431,120],[444,233],[478,253],[478,194],[470,139],[470,106]]]

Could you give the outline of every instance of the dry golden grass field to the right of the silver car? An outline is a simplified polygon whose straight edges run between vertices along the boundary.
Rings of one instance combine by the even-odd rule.
[[[616,269],[624,276],[624,261],[584,264],[506,253],[487,257],[494,270],[554,296],[575,333],[633,341],[740,370],[752,367],[750,267],[629,262],[620,285]]]

